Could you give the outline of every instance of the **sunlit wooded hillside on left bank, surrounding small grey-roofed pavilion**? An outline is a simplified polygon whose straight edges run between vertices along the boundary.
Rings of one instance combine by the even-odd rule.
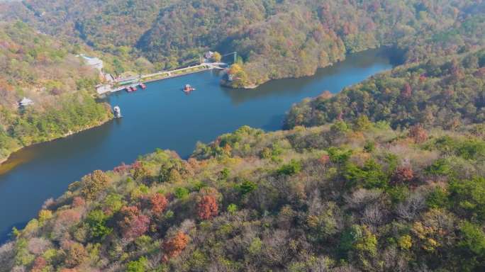
[[[111,118],[94,100],[99,71],[75,57],[77,50],[25,23],[0,24],[0,162],[20,147]],[[18,108],[23,97],[34,104]]]

